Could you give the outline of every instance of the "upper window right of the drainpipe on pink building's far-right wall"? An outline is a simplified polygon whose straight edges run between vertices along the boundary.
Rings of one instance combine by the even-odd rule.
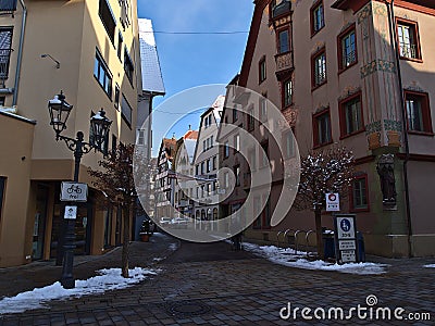
[[[415,22],[398,18],[397,38],[400,58],[421,60],[419,26]]]

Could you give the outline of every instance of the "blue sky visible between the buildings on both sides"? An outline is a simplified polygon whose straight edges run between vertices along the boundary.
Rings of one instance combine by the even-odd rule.
[[[138,0],[140,18],[152,20],[156,42],[162,68],[166,96],[154,99],[153,153],[159,150],[161,138],[179,138],[188,125],[198,128],[199,113],[183,118],[184,112],[208,106],[223,93],[226,85],[240,71],[245,53],[247,33],[225,35],[183,35],[159,32],[248,32],[253,3],[252,0]],[[185,99],[174,108],[172,96],[189,88],[221,84],[203,88],[192,106]],[[192,93],[198,93],[194,91]],[[182,97],[183,98],[183,97]],[[169,104],[167,102],[172,102]],[[195,102],[195,101],[194,101]],[[162,112],[163,111],[163,112]],[[165,113],[171,112],[171,113]],[[174,126],[175,121],[178,121]]]

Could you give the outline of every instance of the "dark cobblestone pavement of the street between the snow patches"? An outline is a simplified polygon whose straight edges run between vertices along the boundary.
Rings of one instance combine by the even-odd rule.
[[[166,241],[162,238],[160,241]],[[136,252],[135,254],[138,254]],[[182,242],[179,250],[161,261],[161,272],[139,285],[100,296],[50,302],[50,310],[0,317],[5,325],[336,325],[350,321],[307,322],[300,310],[368,306],[366,297],[377,297],[374,308],[402,308],[408,313],[431,313],[432,321],[370,321],[352,318],[356,325],[435,324],[434,268],[422,265],[434,259],[386,260],[384,275],[350,275],[290,268],[234,252],[227,243]],[[2,271],[0,271],[2,272]],[[0,274],[1,275],[1,274]],[[299,308],[296,319],[284,321],[279,311]],[[321,311],[318,311],[320,314]],[[356,312],[353,312],[356,316]],[[414,324],[413,324],[414,323]]]

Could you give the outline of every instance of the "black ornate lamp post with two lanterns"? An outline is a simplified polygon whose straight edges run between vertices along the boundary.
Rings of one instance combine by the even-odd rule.
[[[77,131],[76,138],[62,136],[61,133],[66,129],[66,121],[70,116],[73,105],[65,101],[65,96],[61,93],[54,96],[53,99],[48,101],[48,111],[50,113],[50,125],[53,126],[55,133],[55,140],[65,141],[67,148],[74,152],[74,181],[78,181],[78,172],[80,167],[82,156],[88,153],[91,149],[101,151],[107,154],[105,141],[109,134],[110,125],[112,122],[105,116],[105,112],[101,109],[97,114],[90,117],[90,130],[94,135],[94,141],[85,142],[84,134]],[[65,289],[72,289],[75,286],[73,277],[73,263],[74,263],[74,233],[75,220],[67,220],[66,233],[64,235],[63,244],[63,267],[61,284]]]

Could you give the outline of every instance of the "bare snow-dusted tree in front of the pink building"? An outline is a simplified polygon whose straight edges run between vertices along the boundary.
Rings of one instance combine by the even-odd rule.
[[[348,195],[353,179],[353,163],[352,152],[344,147],[312,151],[301,159],[295,208],[314,211],[318,255],[321,259],[324,259],[322,209],[325,208],[325,193],[338,192],[341,198]]]

